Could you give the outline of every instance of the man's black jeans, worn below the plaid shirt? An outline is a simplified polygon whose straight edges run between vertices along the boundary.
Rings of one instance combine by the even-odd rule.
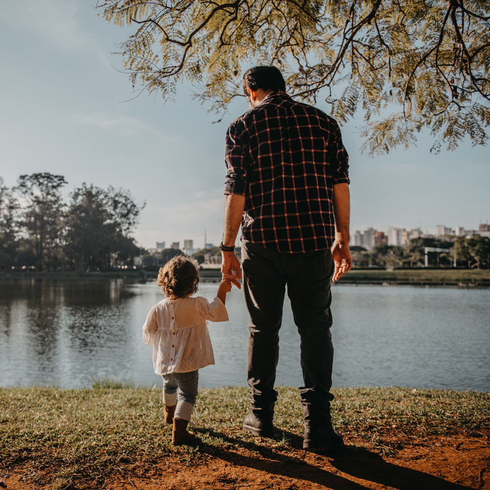
[[[299,388],[306,427],[330,424],[334,349],[330,327],[330,250],[288,253],[242,241],[245,303],[249,314],[247,381],[250,409],[258,420],[272,420],[279,359],[284,293],[288,286],[294,323],[301,339],[304,386]]]

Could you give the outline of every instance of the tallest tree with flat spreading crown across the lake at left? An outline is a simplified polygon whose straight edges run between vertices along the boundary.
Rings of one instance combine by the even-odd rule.
[[[67,184],[63,175],[49,172],[21,175],[14,189],[25,199],[21,225],[32,240],[38,269],[54,265],[60,249],[63,229],[61,188]]]

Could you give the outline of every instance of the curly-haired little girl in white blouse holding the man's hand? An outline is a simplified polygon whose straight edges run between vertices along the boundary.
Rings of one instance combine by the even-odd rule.
[[[231,291],[229,279],[221,281],[213,302],[197,296],[197,262],[177,255],[158,272],[157,284],[165,299],[154,305],[143,325],[143,341],[153,346],[153,367],[163,377],[165,421],[173,421],[172,444],[192,442],[187,431],[197,395],[198,369],[214,364],[207,321],[227,321],[224,306]]]

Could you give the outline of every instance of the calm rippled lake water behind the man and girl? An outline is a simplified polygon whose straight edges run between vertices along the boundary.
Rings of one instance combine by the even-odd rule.
[[[217,284],[200,285],[212,300]],[[333,386],[490,391],[490,289],[334,286]],[[161,386],[141,327],[162,299],[154,283],[0,281],[0,386],[89,387],[92,377]],[[216,365],[201,387],[246,385],[248,315],[242,291],[230,321],[209,324]],[[277,385],[300,386],[299,335],[285,301]]]

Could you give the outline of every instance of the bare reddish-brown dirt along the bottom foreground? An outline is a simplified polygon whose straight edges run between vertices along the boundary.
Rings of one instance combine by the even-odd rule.
[[[108,490],[490,490],[488,437],[411,439],[395,454],[380,456],[366,441],[349,438],[346,450],[317,455],[302,450],[295,437],[269,457],[256,451],[217,449],[196,461],[162,457],[155,466],[134,465],[128,472],[108,477],[103,485],[86,480],[68,488]],[[256,439],[260,445],[260,438]],[[25,481],[27,468],[17,468],[0,480],[8,490],[46,489]],[[47,475],[48,476],[48,475]],[[48,478],[49,479],[49,478]]]

